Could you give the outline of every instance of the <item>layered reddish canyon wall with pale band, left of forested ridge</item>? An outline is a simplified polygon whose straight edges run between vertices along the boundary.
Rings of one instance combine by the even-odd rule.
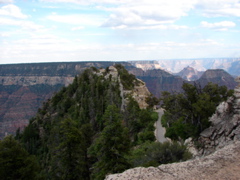
[[[114,62],[0,65],[0,139],[26,126],[44,101],[72,83],[87,67],[106,68],[112,64]]]

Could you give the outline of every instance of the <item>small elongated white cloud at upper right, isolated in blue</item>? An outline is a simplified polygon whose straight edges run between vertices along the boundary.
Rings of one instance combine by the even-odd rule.
[[[218,31],[226,31],[229,28],[233,28],[236,26],[236,24],[232,21],[221,21],[216,23],[209,23],[206,21],[201,22],[201,26],[204,28],[210,28]]]

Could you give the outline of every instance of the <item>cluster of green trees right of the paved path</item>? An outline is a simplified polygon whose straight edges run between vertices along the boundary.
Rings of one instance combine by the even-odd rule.
[[[184,83],[182,89],[181,94],[162,93],[162,125],[166,128],[165,136],[174,140],[197,138],[210,126],[208,119],[219,103],[233,94],[227,87],[212,83],[204,88]]]

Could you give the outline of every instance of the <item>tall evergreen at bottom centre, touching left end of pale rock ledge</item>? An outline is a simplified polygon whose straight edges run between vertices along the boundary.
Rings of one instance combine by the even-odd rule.
[[[95,154],[94,179],[104,179],[108,173],[119,173],[129,167],[125,158],[130,148],[128,129],[122,125],[122,117],[115,105],[109,105],[104,113],[105,127],[91,146]]]

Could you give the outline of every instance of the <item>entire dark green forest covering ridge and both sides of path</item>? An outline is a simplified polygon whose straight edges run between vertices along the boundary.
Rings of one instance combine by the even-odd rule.
[[[104,179],[133,167],[158,166],[191,158],[181,140],[197,139],[210,126],[216,106],[232,95],[226,87],[184,83],[181,94],[149,96],[140,109],[133,96],[140,82],[120,64],[86,69],[45,102],[29,125],[0,141],[0,179]],[[161,102],[161,103],[159,103]],[[153,107],[165,109],[162,124],[171,142],[156,142]]]

